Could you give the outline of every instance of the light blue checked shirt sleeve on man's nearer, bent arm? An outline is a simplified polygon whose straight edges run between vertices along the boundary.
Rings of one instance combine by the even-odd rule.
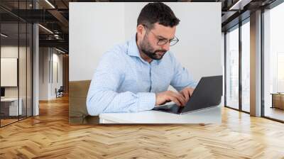
[[[117,92],[124,80],[123,63],[114,53],[103,55],[87,94],[86,104],[89,115],[145,111],[155,106],[155,93]]]

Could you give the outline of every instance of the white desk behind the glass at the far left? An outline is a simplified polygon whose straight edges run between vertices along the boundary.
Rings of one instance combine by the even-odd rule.
[[[19,104],[18,104],[18,98],[4,98],[4,99],[1,99],[1,102],[10,103],[10,105],[9,105],[9,116],[22,115],[23,100],[21,98],[19,98],[19,102],[20,102]]]

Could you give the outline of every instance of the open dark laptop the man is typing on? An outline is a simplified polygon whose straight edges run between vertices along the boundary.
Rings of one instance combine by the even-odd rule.
[[[190,100],[185,106],[177,104],[155,106],[154,111],[164,111],[173,114],[186,114],[192,111],[212,108],[221,103],[223,76],[202,77],[195,87]]]

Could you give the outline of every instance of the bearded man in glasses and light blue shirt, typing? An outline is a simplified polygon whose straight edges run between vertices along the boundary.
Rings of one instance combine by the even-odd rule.
[[[150,3],[137,20],[136,36],[104,53],[89,87],[87,111],[137,112],[173,101],[185,106],[196,82],[170,53],[180,20],[169,6]],[[169,85],[178,92],[167,91]]]

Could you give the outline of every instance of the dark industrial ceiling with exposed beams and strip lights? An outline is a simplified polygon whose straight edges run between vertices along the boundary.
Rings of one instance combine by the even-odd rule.
[[[104,2],[108,2],[103,0]],[[116,1],[116,0],[113,0]],[[138,1],[138,0],[136,0]],[[184,0],[181,0],[184,1]],[[222,30],[225,31],[238,23],[240,14],[267,6],[275,0],[188,0],[190,2],[221,2]],[[40,46],[62,48],[68,51],[69,38],[69,2],[98,2],[98,0],[1,0],[1,23],[7,33],[17,33],[18,20],[28,23],[40,23]],[[184,1],[187,2],[187,1]],[[36,9],[35,9],[36,8]],[[249,13],[247,13],[249,16]],[[243,16],[246,18],[246,16]],[[47,31],[47,28],[49,31]],[[10,31],[9,31],[10,30]],[[3,29],[1,31],[4,31]],[[51,32],[50,32],[51,31]],[[20,32],[21,34],[24,32]]]

